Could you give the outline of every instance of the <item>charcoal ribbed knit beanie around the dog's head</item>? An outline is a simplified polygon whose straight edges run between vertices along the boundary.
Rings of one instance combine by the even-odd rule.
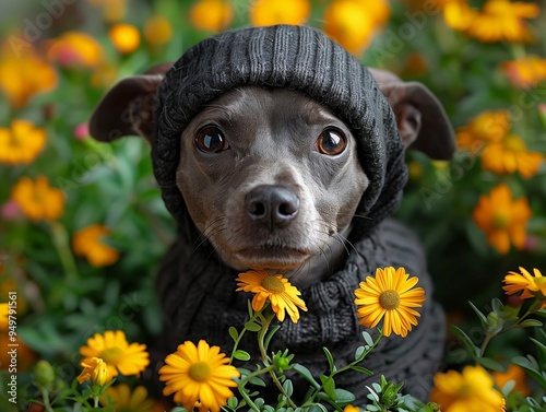
[[[203,105],[245,85],[286,87],[329,106],[351,128],[369,178],[352,237],[399,204],[407,172],[392,109],[370,72],[321,32],[276,25],[225,32],[191,47],[159,89],[152,157],[155,177],[180,235],[194,227],[176,186],[182,130]]]

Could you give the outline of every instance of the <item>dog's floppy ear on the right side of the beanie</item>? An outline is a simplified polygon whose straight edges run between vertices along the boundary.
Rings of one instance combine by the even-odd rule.
[[[369,69],[391,104],[406,148],[435,160],[449,160],[455,133],[438,98],[422,83],[404,82],[385,70]]]

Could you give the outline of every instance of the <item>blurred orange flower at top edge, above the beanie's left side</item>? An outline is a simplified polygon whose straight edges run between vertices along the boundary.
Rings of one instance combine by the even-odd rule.
[[[205,32],[222,32],[233,20],[232,3],[226,0],[199,0],[190,9],[190,23]]]

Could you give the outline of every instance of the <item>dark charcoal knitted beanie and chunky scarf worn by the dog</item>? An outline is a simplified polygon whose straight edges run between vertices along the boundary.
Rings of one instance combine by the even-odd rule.
[[[229,326],[247,320],[248,295],[236,293],[237,273],[201,242],[176,186],[180,137],[203,105],[236,87],[287,87],[329,106],[357,140],[369,187],[357,209],[349,236],[351,254],[342,271],[302,291],[309,308],[298,323],[285,321],[272,342],[288,349],[296,362],[314,373],[327,368],[322,346],[343,366],[361,344],[353,303],[354,290],[378,267],[404,266],[419,276],[429,299],[419,326],[406,339],[384,339],[365,366],[406,381],[407,391],[426,399],[443,346],[442,313],[430,299],[431,284],[418,242],[401,226],[384,221],[397,207],[406,181],[403,145],[395,118],[369,71],[322,33],[278,25],[226,32],[190,48],[166,74],[158,94],[152,157],[167,209],[178,224],[178,238],[163,261],[157,286],[165,317],[165,351],[185,340],[205,339],[228,351]],[[366,217],[361,217],[366,216]],[[383,223],[381,223],[383,222]],[[200,245],[195,248],[195,245]],[[345,374],[339,387],[364,402],[366,385],[378,377]],[[304,388],[296,381],[296,388]]]

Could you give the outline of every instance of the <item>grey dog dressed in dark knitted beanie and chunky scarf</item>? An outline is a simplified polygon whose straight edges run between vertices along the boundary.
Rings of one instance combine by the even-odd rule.
[[[165,353],[199,339],[229,350],[227,328],[247,320],[235,278],[248,269],[281,272],[302,292],[309,311],[283,323],[272,348],[313,373],[327,368],[322,346],[339,366],[352,361],[361,331],[353,291],[376,268],[403,266],[431,295],[418,239],[389,215],[406,181],[404,151],[450,158],[453,129],[423,84],[361,67],[313,28],[205,39],[174,64],[121,80],[90,131],[151,142],[177,222],[157,278]],[[383,339],[365,366],[426,399],[443,342],[441,308],[427,299],[408,338]],[[336,384],[365,402],[373,379],[348,373]]]

